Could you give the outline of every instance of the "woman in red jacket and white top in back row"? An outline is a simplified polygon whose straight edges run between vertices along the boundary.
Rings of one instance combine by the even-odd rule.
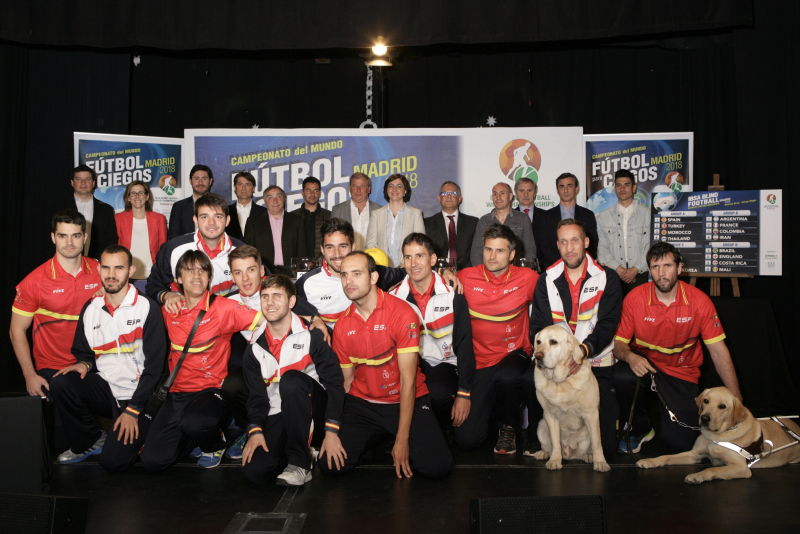
[[[115,215],[119,244],[131,251],[136,272],[134,280],[150,276],[156,254],[167,241],[167,218],[153,211],[153,194],[141,180],[128,184],[125,194],[125,211]]]

